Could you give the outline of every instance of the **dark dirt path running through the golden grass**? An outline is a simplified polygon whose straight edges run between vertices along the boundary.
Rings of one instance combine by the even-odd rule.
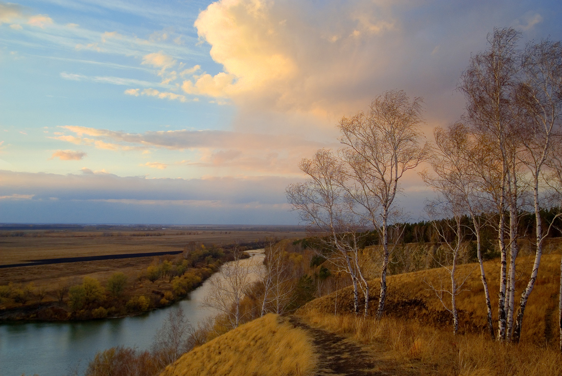
[[[386,375],[375,371],[375,364],[365,351],[349,339],[327,330],[312,328],[293,316],[289,318],[289,322],[297,328],[306,330],[313,338],[313,344],[320,357],[319,370],[315,376]]]

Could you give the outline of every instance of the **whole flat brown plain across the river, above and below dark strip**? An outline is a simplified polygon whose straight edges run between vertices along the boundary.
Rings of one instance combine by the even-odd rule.
[[[170,280],[160,278],[151,283],[142,280],[146,268],[160,264],[162,260],[181,262],[181,255],[188,243],[205,244],[206,247],[228,247],[238,243],[242,247],[260,247],[266,239],[304,237],[305,232],[295,226],[175,226],[174,228],[146,228],[138,226],[81,226],[79,228],[18,228],[0,227],[0,286],[12,284],[21,289],[33,286],[28,309],[57,301],[57,289],[81,283],[84,277],[97,279],[103,286],[111,275],[121,272],[128,277],[125,295],[154,295],[154,292],[170,291]],[[48,265],[15,266],[33,260],[64,257],[91,257],[131,254],[142,256],[150,252],[172,252],[170,256],[128,257],[124,259],[64,262]],[[8,266],[8,267],[7,267]],[[207,265],[209,266],[209,265]],[[212,268],[211,268],[212,269]],[[200,269],[203,274],[211,269]],[[202,278],[205,278],[202,275]],[[145,277],[146,278],[146,277]],[[32,285],[30,285],[32,283]],[[42,296],[43,295],[43,296]],[[156,299],[156,297],[155,297]],[[6,309],[14,309],[20,303],[0,299],[0,316]],[[6,311],[4,311],[6,312]]]

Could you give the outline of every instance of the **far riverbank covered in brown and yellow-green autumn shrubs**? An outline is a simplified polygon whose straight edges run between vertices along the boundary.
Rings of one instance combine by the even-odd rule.
[[[123,318],[161,309],[183,300],[239,251],[193,244],[181,255],[111,260],[111,264],[99,260],[70,263],[64,266],[90,273],[60,277],[48,288],[40,279],[48,273],[39,270],[39,278],[27,284],[0,285],[0,321]],[[61,269],[57,264],[33,266],[53,267]],[[35,285],[35,281],[43,284]]]

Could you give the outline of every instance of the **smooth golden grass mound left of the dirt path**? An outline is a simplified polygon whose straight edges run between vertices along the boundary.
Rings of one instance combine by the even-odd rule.
[[[268,314],[184,354],[161,376],[311,375],[317,362],[304,330]]]

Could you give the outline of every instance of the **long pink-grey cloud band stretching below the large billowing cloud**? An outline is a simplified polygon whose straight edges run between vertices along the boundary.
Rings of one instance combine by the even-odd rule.
[[[109,150],[186,151],[189,159],[176,164],[215,169],[215,173],[300,175],[298,162],[331,143],[302,139],[300,135],[256,134],[224,130],[166,130],[145,133],[115,132],[107,129],[65,125],[51,138]],[[72,133],[72,134],[68,134]],[[168,165],[173,162],[168,163]],[[147,164],[147,166],[149,166]],[[208,173],[208,171],[207,171]]]

